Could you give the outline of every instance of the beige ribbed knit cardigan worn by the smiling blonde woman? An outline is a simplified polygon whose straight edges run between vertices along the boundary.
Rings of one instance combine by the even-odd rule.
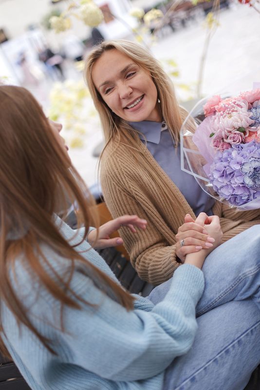
[[[168,181],[172,189],[170,199],[159,192],[148,172],[134,159],[131,149],[123,144],[115,150],[114,145],[113,149],[110,146],[106,148],[100,179],[104,199],[113,218],[136,214],[147,219],[145,231],[130,233],[129,229],[122,228],[120,234],[139,276],[157,285],[169,279],[180,265],[176,256],[175,234],[187,213],[195,215],[180,190],[145,145],[143,147],[147,161]],[[213,212],[221,217],[224,241],[260,223],[260,210],[238,212],[216,202]]]

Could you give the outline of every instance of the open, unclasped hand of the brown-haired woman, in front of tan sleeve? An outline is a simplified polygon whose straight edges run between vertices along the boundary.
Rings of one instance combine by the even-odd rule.
[[[88,242],[94,249],[104,249],[122,245],[123,240],[121,237],[110,238],[110,235],[122,227],[127,227],[132,233],[135,233],[135,227],[145,230],[146,225],[147,221],[139,218],[137,215],[122,215],[101,225],[98,229],[98,237],[96,237],[97,229],[91,231],[88,234]]]

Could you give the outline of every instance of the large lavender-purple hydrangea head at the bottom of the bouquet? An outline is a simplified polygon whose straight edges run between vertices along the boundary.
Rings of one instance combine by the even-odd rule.
[[[255,141],[217,152],[209,175],[214,191],[234,206],[260,197],[259,161],[260,144]]]

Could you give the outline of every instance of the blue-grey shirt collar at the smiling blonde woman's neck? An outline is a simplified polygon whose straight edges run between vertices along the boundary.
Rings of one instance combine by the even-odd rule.
[[[132,128],[138,130],[139,137],[143,140],[158,144],[161,138],[161,132],[167,130],[167,124],[163,122],[153,122],[151,120],[142,120],[141,122],[128,122]]]

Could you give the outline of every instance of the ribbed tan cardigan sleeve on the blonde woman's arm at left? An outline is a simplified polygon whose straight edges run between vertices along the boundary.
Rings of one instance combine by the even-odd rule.
[[[154,226],[152,219],[161,224],[165,222],[161,215],[153,215],[154,209],[149,207],[147,199],[142,205],[136,201],[128,189],[124,188],[111,173],[101,177],[102,191],[106,204],[113,218],[124,214],[135,214],[148,221],[145,231],[131,233],[129,229],[120,229],[124,246],[130,254],[130,261],[141,279],[153,285],[168,280],[180,265],[176,255],[176,246],[168,245],[163,234]],[[141,192],[140,192],[141,194]]]

